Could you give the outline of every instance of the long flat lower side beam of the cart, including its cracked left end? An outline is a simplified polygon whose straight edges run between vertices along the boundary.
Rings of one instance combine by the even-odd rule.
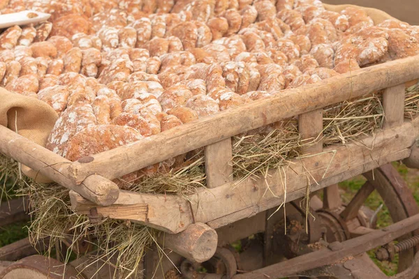
[[[192,213],[189,204],[181,197],[124,191],[115,205],[98,206],[97,209],[103,216],[138,220],[146,225],[166,228],[167,232],[180,232],[193,220],[207,223],[212,228],[222,227],[278,206],[284,202],[285,186],[286,200],[291,201],[304,197],[307,187],[311,191],[319,190],[380,165],[407,158],[410,155],[409,148],[418,135],[419,119],[414,119],[401,126],[381,130],[360,142],[331,146],[323,153],[297,158],[284,169],[270,171],[266,180],[249,178],[238,185],[233,182],[212,189],[201,188],[197,194],[189,196]],[[149,198],[146,200],[145,196]],[[89,209],[95,207],[84,202],[80,196],[72,202],[79,213],[89,213]],[[131,214],[133,211],[125,206],[148,206],[154,219],[145,218],[144,213]],[[178,210],[180,207],[182,212]],[[131,216],[127,216],[127,213]],[[156,216],[162,216],[163,220]]]

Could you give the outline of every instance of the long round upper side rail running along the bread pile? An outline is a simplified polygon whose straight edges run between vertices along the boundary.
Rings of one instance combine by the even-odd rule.
[[[68,169],[75,183],[82,183],[90,174],[115,179],[247,130],[414,80],[419,76],[418,63],[419,56],[412,56],[316,84],[287,89],[270,98],[256,100],[133,144],[98,153],[90,163],[75,162]]]

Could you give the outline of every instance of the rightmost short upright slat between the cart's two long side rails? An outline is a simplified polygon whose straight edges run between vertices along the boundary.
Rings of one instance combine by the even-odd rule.
[[[383,128],[392,128],[404,121],[404,84],[389,87],[383,91]]]

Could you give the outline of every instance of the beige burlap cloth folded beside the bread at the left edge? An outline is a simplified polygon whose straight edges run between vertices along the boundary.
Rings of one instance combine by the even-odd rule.
[[[57,113],[43,101],[0,88],[0,125],[45,146],[57,119]],[[52,182],[23,165],[22,172],[39,183]]]

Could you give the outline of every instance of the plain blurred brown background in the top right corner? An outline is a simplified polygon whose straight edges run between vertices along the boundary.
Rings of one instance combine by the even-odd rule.
[[[322,0],[334,5],[353,4],[369,8],[378,8],[409,24],[419,25],[418,0]]]

